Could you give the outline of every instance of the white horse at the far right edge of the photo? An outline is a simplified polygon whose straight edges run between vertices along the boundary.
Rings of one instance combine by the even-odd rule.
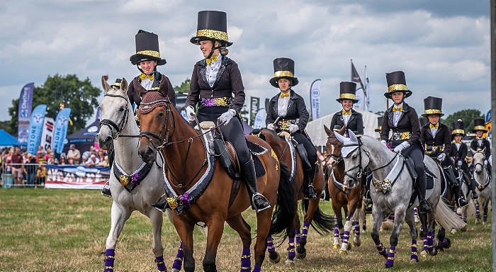
[[[491,179],[487,173],[487,161],[485,157],[485,148],[480,151],[471,149],[473,154],[473,181],[475,182],[475,191],[478,193],[478,204],[475,205],[475,224],[480,224],[480,210],[483,208],[483,224],[487,224],[487,206],[492,198]]]

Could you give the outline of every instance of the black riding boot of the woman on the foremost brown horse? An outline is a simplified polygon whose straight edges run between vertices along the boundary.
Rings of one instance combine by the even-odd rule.
[[[252,209],[261,212],[262,210],[270,208],[271,205],[269,204],[269,201],[257,191],[257,174],[255,173],[253,159],[249,159],[248,162],[240,164],[240,166],[244,183],[248,189],[249,198],[252,201]]]

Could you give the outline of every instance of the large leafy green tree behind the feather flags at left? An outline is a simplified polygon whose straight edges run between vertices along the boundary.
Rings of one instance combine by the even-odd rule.
[[[86,120],[91,118],[95,108],[98,106],[96,98],[101,94],[101,90],[91,85],[91,81],[86,77],[79,80],[75,74],[47,77],[45,84],[36,86],[33,91],[33,108],[40,104],[47,105],[47,117],[56,118],[60,111],[60,103],[64,103],[65,108],[71,108],[72,125],[69,125],[67,134],[81,130],[86,125]],[[9,108],[10,131],[18,131],[18,104],[19,98],[12,100],[12,107]]]

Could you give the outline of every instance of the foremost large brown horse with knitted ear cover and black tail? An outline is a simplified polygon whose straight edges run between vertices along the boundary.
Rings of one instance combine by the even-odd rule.
[[[241,215],[251,206],[247,188],[233,181],[220,160],[215,159],[208,143],[203,142],[207,141],[206,133],[193,129],[171,105],[167,98],[168,86],[167,79],[162,78],[158,92],[142,94],[138,111],[141,124],[138,152],[144,162],[154,162],[155,154],[162,152],[168,166],[169,181],[166,181],[165,189],[169,196],[167,201],[175,211],[174,227],[183,243],[184,271],[195,270],[193,227],[196,222],[204,222],[208,226],[203,271],[216,271],[215,258],[224,222],[241,237],[241,271],[250,271],[251,227]],[[247,139],[266,150],[257,155],[265,171],[264,176],[257,179],[258,191],[271,204],[271,208],[257,213],[253,271],[261,271],[266,238],[273,234],[287,235],[288,230],[293,229],[295,187],[291,185],[288,171],[279,164],[269,144],[253,136]]]

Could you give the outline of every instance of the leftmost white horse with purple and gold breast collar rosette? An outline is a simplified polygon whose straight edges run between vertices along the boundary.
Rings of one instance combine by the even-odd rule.
[[[111,166],[110,175],[113,198],[111,231],[106,242],[104,271],[113,271],[115,245],[125,221],[135,210],[150,218],[153,232],[152,251],[157,269],[158,271],[166,271],[161,238],[162,212],[152,207],[152,203],[164,193],[162,167],[159,168],[159,164],[145,164],[137,154],[140,128],[137,127],[128,99],[128,81],[122,79],[120,86],[110,86],[102,77],[101,83],[105,90],[105,96],[100,103],[101,128],[96,135],[96,140],[98,140],[101,149],[109,149],[112,143],[115,148],[115,163]],[[119,179],[115,177],[115,171],[119,172]],[[172,222],[171,210],[167,210],[167,215]],[[181,269],[181,257],[182,248],[180,246],[178,256],[174,261],[173,271]]]

